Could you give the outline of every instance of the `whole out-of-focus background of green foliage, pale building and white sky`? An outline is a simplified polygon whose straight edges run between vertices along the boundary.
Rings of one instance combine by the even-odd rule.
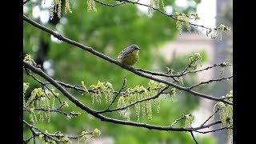
[[[110,2],[110,1],[102,1]],[[139,1],[148,3],[148,1]],[[233,26],[233,2],[232,0],[168,0],[165,2],[165,10],[168,14],[174,12],[192,14],[197,11],[202,19],[198,24],[215,27],[219,24]],[[62,2],[63,3],[63,2]],[[54,17],[50,20],[50,1],[31,0],[23,6],[23,13],[42,23],[58,33],[63,34],[83,45],[91,46],[110,58],[117,58],[119,52],[126,46],[137,44],[142,50],[139,52],[139,62],[134,67],[145,70],[166,71],[166,66],[181,71],[187,66],[191,53],[202,54],[202,67],[220,62],[232,63],[232,32],[222,34],[212,40],[206,37],[206,30],[199,29],[199,33],[189,33],[184,28],[181,35],[178,34],[176,21],[158,12],[148,13],[147,7],[126,4],[109,7],[96,4],[97,12],[86,10],[86,1],[70,1],[72,14],[65,14],[62,9],[62,18]],[[64,5],[62,5],[64,6]],[[192,29],[193,31],[193,29]],[[149,80],[140,78],[129,71],[122,70],[110,62],[95,57],[93,54],[80,50],[74,46],[61,42],[58,39],[38,30],[29,23],[23,22],[23,54],[30,54],[34,60],[43,66],[43,70],[54,79],[72,85],[81,85],[84,81],[86,86],[101,82],[111,82],[114,90],[119,90],[122,80],[126,76],[127,87],[147,86]],[[186,86],[205,81],[210,78],[218,78],[220,70],[210,70],[200,74],[185,77]],[[225,75],[232,74],[228,69]],[[26,98],[34,88],[40,85],[32,78],[23,73],[23,81],[30,82],[30,88],[26,92]],[[196,90],[206,94],[217,96],[226,95],[232,90],[232,80],[218,82],[208,86],[199,87]],[[102,104],[91,102],[90,96],[78,94],[70,90],[81,102],[96,110],[104,110],[106,104],[102,98]],[[62,96],[61,96],[62,97]],[[65,100],[62,97],[62,100]],[[66,100],[68,101],[68,100]],[[177,96],[171,100],[162,98],[160,114],[157,114],[156,106],[153,106],[153,119],[140,118],[140,122],[169,126],[174,119],[182,114],[195,114],[192,126],[198,126],[212,113],[214,102],[194,97],[190,94],[178,91]],[[114,104],[116,106],[116,103]],[[137,143],[194,143],[189,133],[147,130],[133,126],[116,125],[109,122],[101,122],[90,114],[80,110],[69,102],[66,111],[81,112],[81,116],[67,120],[66,116],[51,114],[50,122],[39,122],[38,127],[49,133],[61,130],[64,134],[79,134],[83,130],[98,128],[102,135],[100,138],[89,140],[88,143],[98,144],[137,144]],[[137,121],[134,110],[130,111],[131,121]],[[118,112],[106,114],[113,118],[122,118]],[[25,119],[29,115],[23,114]],[[184,122],[178,122],[176,126],[184,126]],[[27,138],[30,130],[24,126],[23,137]],[[230,143],[226,131],[214,134],[196,134],[199,143]]]

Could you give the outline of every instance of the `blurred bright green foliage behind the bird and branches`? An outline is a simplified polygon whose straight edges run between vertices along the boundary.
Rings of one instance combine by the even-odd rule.
[[[105,0],[102,2],[112,2]],[[194,1],[194,2],[200,2]],[[40,6],[41,1],[28,2],[26,4],[26,16],[32,17],[32,10],[35,6]],[[97,12],[87,12],[86,1],[70,1],[73,14],[62,13],[62,18],[56,26],[49,23],[43,24],[58,33],[63,34],[66,38],[70,38],[76,42],[80,42],[85,46],[90,46],[94,50],[98,50],[102,54],[108,55],[110,58],[116,59],[121,50],[131,44],[137,44],[142,50],[139,52],[139,61],[134,67],[152,70],[152,64],[155,62],[154,50],[160,48],[165,42],[175,38],[178,34],[175,21],[158,12],[145,14],[138,10],[138,7],[132,4],[122,6],[109,7],[96,3]],[[174,11],[188,13],[194,12],[195,6],[188,6],[179,9],[175,5],[174,0],[165,1],[165,6],[172,6]],[[45,10],[46,8],[42,8]],[[46,9],[47,10],[47,9]],[[150,15],[150,16],[149,16]],[[33,18],[39,21],[39,18]],[[72,85],[81,85],[81,81],[85,82],[87,88],[92,84],[101,82],[111,82],[114,90],[119,90],[122,86],[123,78],[126,76],[127,88],[137,85],[147,86],[148,79],[140,78],[129,71],[122,70],[118,66],[114,66],[110,62],[106,62],[102,58],[95,57],[87,51],[71,46],[66,42],[54,42],[50,38],[50,34],[38,30],[27,22],[23,22],[23,54],[31,54],[37,58],[40,49],[39,39],[49,42],[50,50],[46,55],[46,60],[52,63],[51,68],[54,70],[53,78]],[[180,64],[181,62],[182,64]],[[186,60],[178,61],[175,69],[182,70],[186,66]],[[163,67],[166,64],[159,63]],[[47,70],[46,70],[47,72]],[[30,83],[30,88],[26,92],[26,97],[34,88],[39,87],[38,82],[30,78],[24,72],[24,82]],[[38,77],[37,77],[38,78]],[[42,78],[41,78],[42,79]],[[79,94],[74,90],[70,90],[81,102],[90,106],[95,110],[106,109],[105,99],[102,98],[102,104],[95,103],[92,105],[90,95]],[[62,101],[69,100],[60,95]],[[116,101],[117,102],[117,101]],[[116,106],[116,102],[113,106]],[[162,98],[160,114],[156,112],[156,106],[153,105],[153,119],[140,118],[140,122],[147,122],[154,125],[169,126],[174,119],[179,118],[182,114],[189,114],[197,108],[197,98],[186,96],[184,92],[178,93],[174,102],[170,98]],[[102,131],[103,136],[114,138],[114,143],[193,143],[194,140],[189,133],[185,132],[169,132],[158,130],[147,130],[134,126],[122,126],[109,122],[101,122],[85,111],[80,110],[69,102],[69,107],[64,109],[67,112],[76,111],[82,114],[77,118],[66,119],[61,114],[51,114],[50,123],[39,122],[38,128],[47,130],[49,133],[61,130],[64,134],[80,134],[83,130],[94,130],[98,128]],[[131,121],[136,121],[137,117],[134,109],[130,109]],[[118,112],[106,114],[113,118],[122,118]],[[24,112],[24,118],[28,120],[28,114]],[[184,126],[184,122],[178,122],[175,126]],[[24,126],[24,138],[28,138],[30,130]],[[215,143],[213,138],[198,138],[199,143]]]

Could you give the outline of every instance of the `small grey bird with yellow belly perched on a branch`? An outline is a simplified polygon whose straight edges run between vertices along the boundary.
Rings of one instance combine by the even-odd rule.
[[[127,66],[133,66],[138,62],[138,50],[141,50],[137,45],[131,45],[126,47],[118,55],[118,62]]]

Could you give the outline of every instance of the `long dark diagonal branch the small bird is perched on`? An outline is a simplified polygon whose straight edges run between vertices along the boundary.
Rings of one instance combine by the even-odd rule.
[[[117,60],[114,60],[114,59],[112,59],[112,58],[110,58],[110,57],[108,57],[108,56],[106,56],[102,53],[99,53],[98,51],[94,50],[93,48],[91,48],[89,46],[83,46],[82,44],[80,44],[78,42],[74,42],[73,40],[70,40],[69,38],[63,37],[61,34],[58,34],[58,33],[54,32],[53,30],[50,30],[50,29],[46,28],[45,26],[42,26],[42,25],[38,24],[37,22],[34,22],[32,19],[27,18],[25,15],[23,15],[23,19],[26,22],[29,22],[31,25],[37,27],[38,29],[46,31],[49,34],[52,34],[55,38],[58,38],[59,40],[62,40],[63,42],[67,42],[67,43],[69,43],[73,46],[77,46],[77,47],[81,48],[82,50],[86,50],[86,51],[90,52],[91,54],[94,54],[94,55],[98,56],[99,58],[105,59],[106,61],[108,61],[110,63],[114,63],[115,65],[120,66],[123,69],[129,70],[130,72],[132,72],[134,74],[137,74],[138,76],[140,76],[142,78],[148,78],[148,79],[151,79],[151,80],[154,80],[154,81],[157,81],[157,82],[165,83],[166,85],[173,86],[173,87],[177,88],[178,90],[184,90],[184,91],[186,91],[190,94],[193,94],[195,96],[199,96],[199,97],[202,97],[202,98],[208,98],[208,99],[212,99],[214,101],[224,102],[224,103],[233,105],[233,102],[229,102],[229,101],[226,101],[226,100],[221,99],[221,98],[215,98],[215,97],[207,95],[207,94],[201,94],[201,93],[198,93],[194,90],[190,90],[186,87],[178,86],[178,85],[176,85],[172,82],[168,82],[166,80],[162,80],[162,79],[159,79],[159,78],[154,78],[150,75],[142,74],[141,72],[138,72],[138,70],[135,70],[133,67],[123,65],[122,63],[118,62]]]

